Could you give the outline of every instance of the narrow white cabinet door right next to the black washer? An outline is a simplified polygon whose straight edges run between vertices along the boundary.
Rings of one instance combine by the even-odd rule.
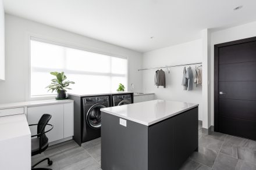
[[[74,103],[64,104],[64,138],[74,136]]]

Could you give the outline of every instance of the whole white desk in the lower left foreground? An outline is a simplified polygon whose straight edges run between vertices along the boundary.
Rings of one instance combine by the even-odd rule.
[[[31,169],[31,133],[25,114],[0,117],[0,169]]]

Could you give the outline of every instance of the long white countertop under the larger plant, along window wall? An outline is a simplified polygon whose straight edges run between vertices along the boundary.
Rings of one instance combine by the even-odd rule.
[[[0,109],[6,108],[17,108],[17,107],[26,107],[26,106],[42,106],[47,104],[61,104],[61,103],[70,103],[74,102],[70,99],[65,100],[35,100],[35,101],[27,101],[27,102],[16,102],[16,103],[4,103],[0,104]]]

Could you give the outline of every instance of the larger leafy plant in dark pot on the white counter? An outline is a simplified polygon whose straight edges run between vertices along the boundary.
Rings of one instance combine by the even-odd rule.
[[[66,99],[66,89],[71,89],[68,88],[67,86],[69,86],[69,84],[74,84],[73,81],[64,81],[65,79],[67,79],[66,75],[64,74],[64,72],[51,72],[52,75],[55,75],[56,78],[52,79],[51,84],[48,85],[46,88],[49,88],[49,91],[56,91],[58,93],[57,97],[55,98],[56,100],[62,100],[62,99]]]

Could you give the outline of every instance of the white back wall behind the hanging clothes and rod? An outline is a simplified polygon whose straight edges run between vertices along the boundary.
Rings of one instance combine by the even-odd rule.
[[[143,54],[143,68],[159,67],[175,64],[202,62],[202,40],[186,42],[175,46],[169,46]],[[199,64],[197,66],[200,66]],[[195,66],[191,66],[194,68]],[[164,68],[166,77],[166,88],[154,85],[155,71],[144,70],[143,72],[143,92],[154,92],[157,99],[177,100],[181,102],[191,102],[200,104],[199,120],[202,120],[202,86],[195,87],[193,91],[183,91],[182,76],[183,66]],[[194,71],[194,69],[193,69]]]

